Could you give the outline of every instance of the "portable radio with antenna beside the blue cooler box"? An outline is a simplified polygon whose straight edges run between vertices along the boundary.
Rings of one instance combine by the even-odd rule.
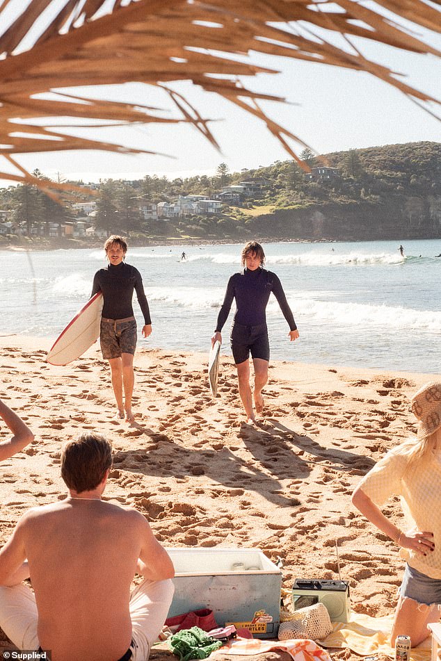
[[[323,603],[333,622],[348,622],[351,614],[349,584],[346,580],[297,578],[292,587],[294,610]]]

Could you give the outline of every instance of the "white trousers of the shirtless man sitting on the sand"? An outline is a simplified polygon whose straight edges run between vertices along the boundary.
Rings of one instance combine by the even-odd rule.
[[[131,661],[147,661],[166,621],[175,586],[171,580],[145,580],[131,592]],[[21,650],[37,650],[38,610],[33,591],[19,583],[0,587],[0,626]]]

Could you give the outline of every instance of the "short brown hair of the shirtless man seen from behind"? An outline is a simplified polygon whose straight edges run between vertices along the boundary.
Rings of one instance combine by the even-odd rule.
[[[61,453],[61,477],[77,493],[95,489],[111,465],[111,442],[95,432],[69,441]]]

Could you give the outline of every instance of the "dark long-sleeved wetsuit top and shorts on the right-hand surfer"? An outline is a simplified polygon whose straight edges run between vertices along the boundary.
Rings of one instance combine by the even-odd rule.
[[[228,281],[225,298],[218,314],[216,332],[223,329],[235,299],[236,313],[232,325],[231,348],[236,364],[248,360],[250,352],[253,358],[269,360],[266,306],[271,292],[278,300],[289,329],[296,330],[293,313],[275,273],[264,268],[257,268],[254,271],[244,269],[243,272],[232,275]]]

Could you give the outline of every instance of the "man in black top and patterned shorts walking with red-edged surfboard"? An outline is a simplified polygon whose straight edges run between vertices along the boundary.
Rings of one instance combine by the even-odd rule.
[[[125,239],[109,236],[104,243],[104,250],[109,266],[95,273],[91,295],[102,291],[104,298],[99,342],[103,358],[109,361],[111,368],[113,392],[118,407],[116,415],[131,422],[134,420],[131,397],[136,349],[136,320],[131,304],[134,290],[144,316],[144,337],[152,332],[152,322],[141,273],[124,261],[127,252]]]

